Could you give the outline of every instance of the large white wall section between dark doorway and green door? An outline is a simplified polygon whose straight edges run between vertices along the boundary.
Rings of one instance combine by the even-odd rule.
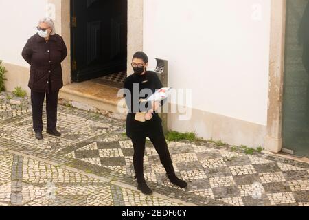
[[[271,1],[144,0],[144,51],[193,108],[266,125]]]

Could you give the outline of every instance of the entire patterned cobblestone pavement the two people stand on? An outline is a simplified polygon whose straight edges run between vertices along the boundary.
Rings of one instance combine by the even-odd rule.
[[[8,95],[0,94],[0,205],[309,206],[309,164],[209,142],[168,142],[186,190],[170,184],[146,142],[144,170],[155,194],[141,195],[124,122],[59,106],[62,137],[38,141],[30,100]]]

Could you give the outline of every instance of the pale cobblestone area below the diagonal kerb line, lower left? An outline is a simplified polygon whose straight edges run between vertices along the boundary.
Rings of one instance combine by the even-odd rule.
[[[1,170],[12,170],[1,175],[1,206],[183,206],[36,159],[3,151],[0,155],[10,159],[1,163]]]

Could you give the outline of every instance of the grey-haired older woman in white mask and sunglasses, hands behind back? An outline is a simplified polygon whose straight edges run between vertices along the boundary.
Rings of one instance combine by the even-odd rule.
[[[33,129],[43,139],[43,103],[46,94],[47,133],[60,137],[56,130],[59,89],[62,88],[61,62],[67,56],[62,37],[56,34],[52,19],[38,22],[38,32],[28,39],[22,56],[31,65],[28,86],[31,89]]]

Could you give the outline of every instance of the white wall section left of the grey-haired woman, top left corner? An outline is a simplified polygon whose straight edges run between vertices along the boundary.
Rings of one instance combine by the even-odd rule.
[[[0,0],[0,60],[28,67],[21,51],[45,17],[46,5],[47,0]]]

